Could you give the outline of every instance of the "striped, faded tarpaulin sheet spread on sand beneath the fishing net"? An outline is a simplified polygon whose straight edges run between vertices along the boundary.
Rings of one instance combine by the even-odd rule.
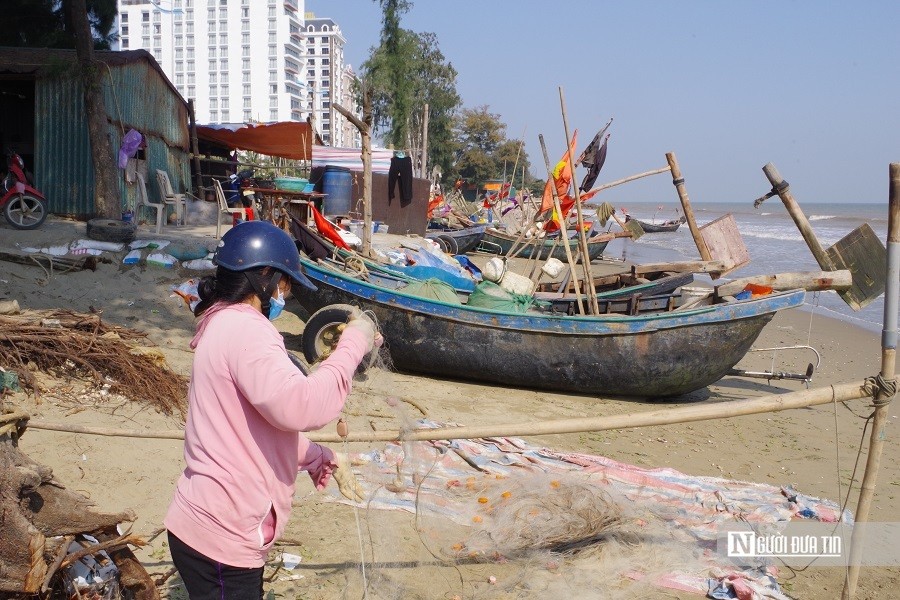
[[[419,427],[441,424],[423,420]],[[560,452],[517,438],[389,443],[383,450],[351,455],[367,509],[399,509],[471,526],[485,520],[504,500],[500,492],[517,480],[530,485],[535,474],[573,477],[626,502],[633,518],[666,524],[666,544],[693,547],[705,569],[682,572],[675,567],[655,579],[659,587],[705,595],[710,587],[749,588],[747,598],[787,600],[775,580],[774,566],[741,570],[710,550],[720,526],[762,525],[809,519],[852,523],[852,515],[831,501],[813,498],[787,486],[702,477],[671,468],[646,468],[603,456]],[[398,468],[399,467],[399,468]],[[473,468],[474,467],[474,468]],[[476,470],[478,469],[478,470]],[[410,471],[417,473],[412,477]],[[401,478],[402,489],[388,485]],[[556,482],[551,482],[551,485]],[[546,493],[553,490],[549,487]],[[352,504],[337,493],[329,500]],[[476,500],[477,499],[477,500]],[[485,500],[490,502],[485,503]],[[639,566],[628,577],[640,579]]]

